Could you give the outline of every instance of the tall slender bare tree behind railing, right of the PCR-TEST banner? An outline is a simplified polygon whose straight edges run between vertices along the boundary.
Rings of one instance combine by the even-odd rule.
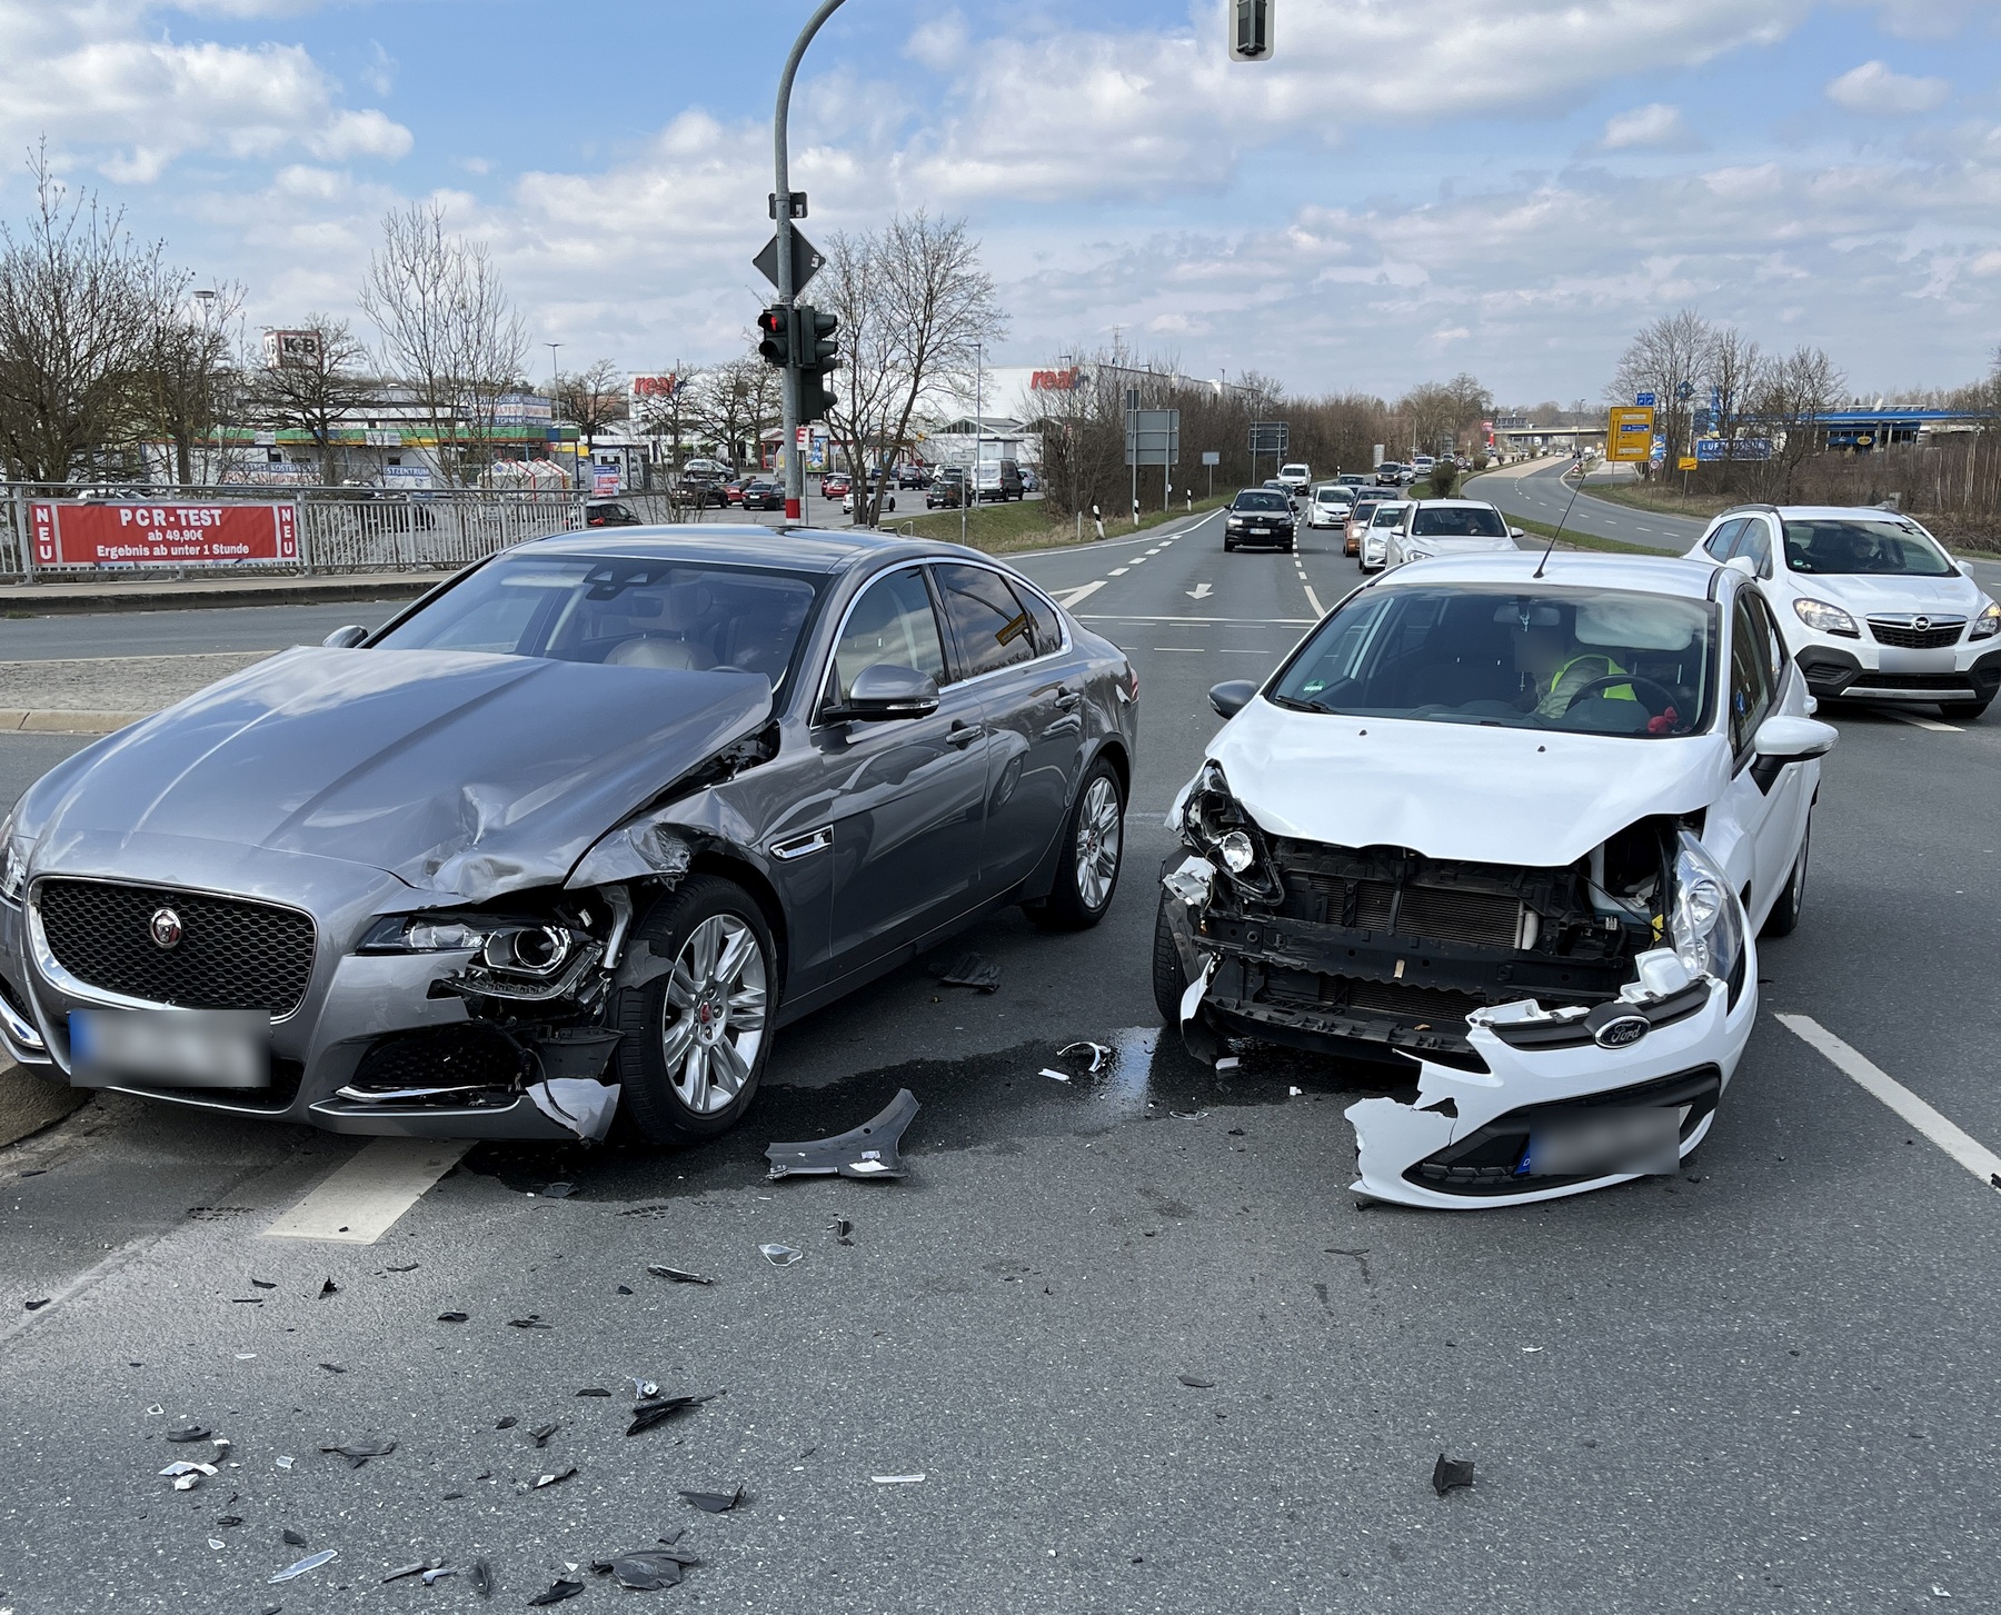
[[[392,210],[360,306],[382,332],[384,372],[416,394],[438,470],[470,486],[492,458],[500,394],[520,384],[528,352],[486,244],[448,234],[438,202]]]

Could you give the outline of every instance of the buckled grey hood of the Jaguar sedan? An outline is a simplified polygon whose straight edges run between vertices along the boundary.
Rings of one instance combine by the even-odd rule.
[[[286,650],[58,766],[22,831],[312,853],[480,899],[560,881],[768,714],[754,672]]]

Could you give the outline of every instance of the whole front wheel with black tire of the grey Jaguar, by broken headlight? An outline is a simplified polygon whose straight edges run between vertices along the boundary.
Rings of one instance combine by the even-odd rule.
[[[748,957],[738,953],[744,943]],[[672,959],[674,969],[628,987],[618,1003],[624,1039],[616,1071],[630,1125],[654,1145],[728,1133],[750,1109],[770,1055],[778,953],[764,915],[734,881],[696,875],[646,913],[632,931],[632,947],[650,947],[654,957]],[[734,975],[724,977],[732,957]],[[704,1001],[716,1013],[714,1037],[694,1023]],[[682,1027],[690,1031],[676,1037]],[[718,1057],[718,1049],[728,1055]]]

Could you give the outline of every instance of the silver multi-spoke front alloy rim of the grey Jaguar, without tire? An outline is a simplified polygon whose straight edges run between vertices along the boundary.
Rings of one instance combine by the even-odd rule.
[[[660,1053],[694,1115],[728,1109],[750,1081],[766,993],[764,951],[734,915],[710,915],[682,943],[666,979]]]

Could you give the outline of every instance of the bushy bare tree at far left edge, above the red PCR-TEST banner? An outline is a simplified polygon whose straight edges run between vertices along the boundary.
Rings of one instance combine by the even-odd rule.
[[[128,464],[142,434],[144,370],[160,286],[158,244],[90,192],[68,196],[46,150],[28,162],[34,210],[0,224],[0,462],[30,482]]]

